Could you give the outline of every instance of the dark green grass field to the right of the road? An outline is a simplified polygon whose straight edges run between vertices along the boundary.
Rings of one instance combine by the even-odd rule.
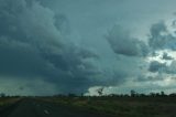
[[[175,97],[45,97],[45,102],[107,117],[176,117]]]

